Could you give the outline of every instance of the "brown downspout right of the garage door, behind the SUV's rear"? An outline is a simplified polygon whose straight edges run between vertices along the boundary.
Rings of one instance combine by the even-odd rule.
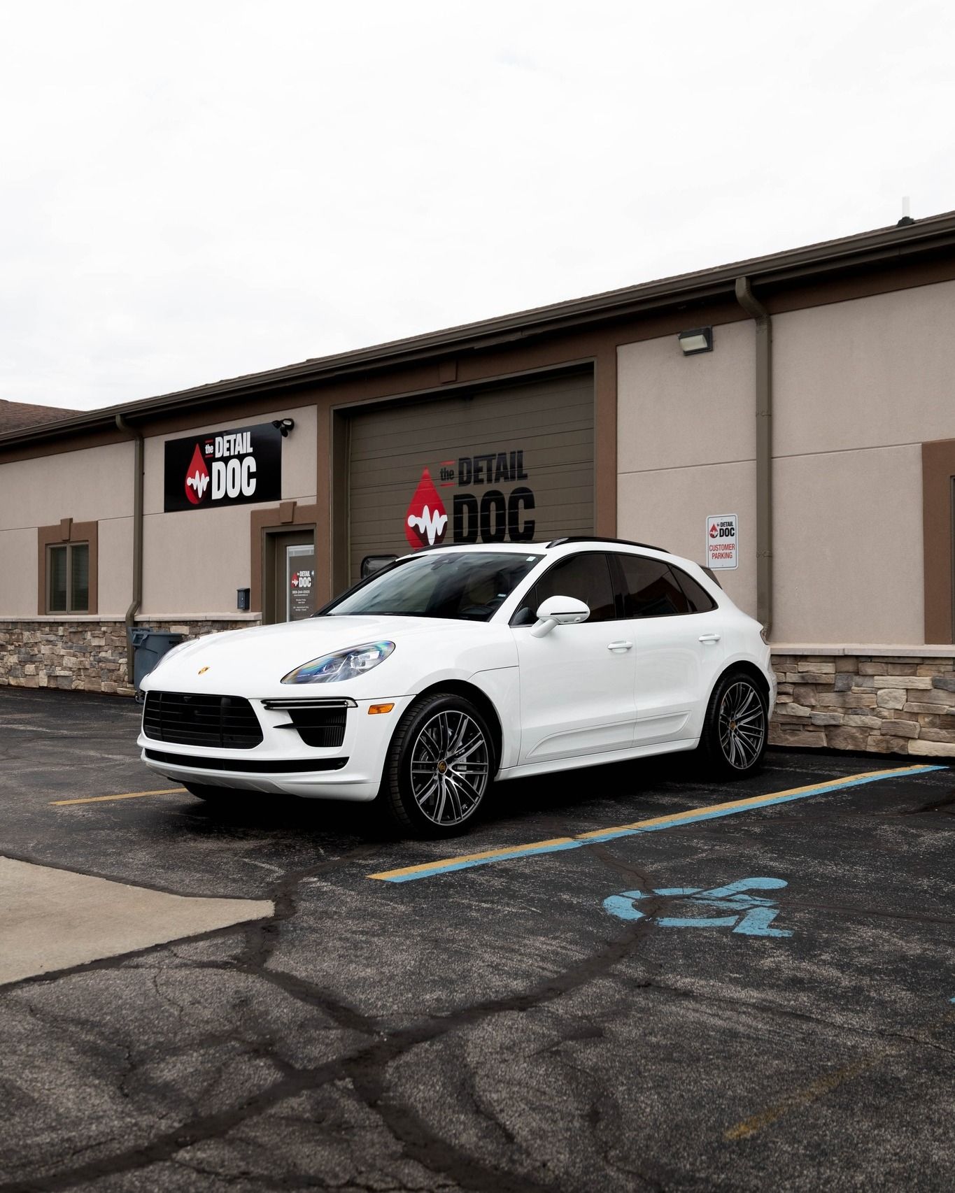
[[[772,629],[772,320],[750,279],[737,278],[737,302],[756,321],[756,618]]]

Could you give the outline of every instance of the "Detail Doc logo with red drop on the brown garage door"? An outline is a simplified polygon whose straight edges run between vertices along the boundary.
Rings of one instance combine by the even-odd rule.
[[[534,538],[534,490],[524,452],[461,456],[437,464],[437,486],[424,468],[405,514],[405,538],[412,550],[442,543],[529,543]],[[448,494],[450,511],[442,489]],[[468,492],[460,492],[460,490]]]

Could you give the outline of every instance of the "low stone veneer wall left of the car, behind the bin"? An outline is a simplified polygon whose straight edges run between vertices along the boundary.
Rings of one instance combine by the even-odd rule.
[[[216,630],[241,630],[257,622],[204,619],[138,623],[196,638]],[[122,619],[0,622],[0,687],[56,687],[74,692],[133,696],[127,675],[127,628]]]

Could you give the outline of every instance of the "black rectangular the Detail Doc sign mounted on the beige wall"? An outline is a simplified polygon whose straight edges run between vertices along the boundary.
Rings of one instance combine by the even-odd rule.
[[[282,500],[282,435],[271,422],[166,441],[166,513]]]

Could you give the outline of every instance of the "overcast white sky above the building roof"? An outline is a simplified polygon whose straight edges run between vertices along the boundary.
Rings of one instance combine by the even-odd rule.
[[[0,397],[134,401],[955,208],[936,0],[0,0]]]

